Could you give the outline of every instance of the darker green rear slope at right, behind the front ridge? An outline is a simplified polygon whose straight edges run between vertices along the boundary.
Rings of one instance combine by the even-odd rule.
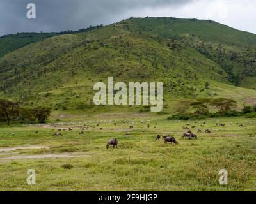
[[[131,18],[120,24],[133,32],[183,41],[225,69],[234,85],[256,88],[256,34],[212,20],[172,17]]]

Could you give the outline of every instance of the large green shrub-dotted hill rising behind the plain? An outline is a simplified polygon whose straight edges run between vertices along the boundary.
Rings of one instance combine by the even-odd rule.
[[[55,110],[104,111],[92,104],[93,85],[114,77],[116,82],[164,82],[166,109],[183,98],[225,96],[245,103],[254,101],[256,91],[235,85],[256,87],[255,43],[255,34],[209,20],[131,18],[4,55],[0,96]]]

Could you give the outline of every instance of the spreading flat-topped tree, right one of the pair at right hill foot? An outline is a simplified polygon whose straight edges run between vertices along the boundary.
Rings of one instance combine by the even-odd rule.
[[[230,112],[232,108],[236,108],[237,102],[233,99],[218,98],[212,100],[212,105],[216,106],[219,112],[225,115],[225,113]]]

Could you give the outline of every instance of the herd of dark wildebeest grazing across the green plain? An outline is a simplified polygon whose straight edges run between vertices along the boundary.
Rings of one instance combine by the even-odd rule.
[[[198,122],[195,122],[195,123],[197,124]],[[205,122],[202,122],[200,124],[200,127],[202,128],[202,127],[204,127],[204,125],[205,125]],[[244,126],[243,124],[238,124],[237,123],[237,125],[239,127],[246,128],[246,126]],[[97,126],[100,126],[100,125],[97,124]],[[116,123],[115,123],[115,126],[116,126]],[[188,126],[191,126],[191,125],[188,123],[188,124],[186,124],[185,127],[182,128],[182,129],[187,130],[186,133],[182,134],[182,138],[188,138],[189,140],[192,140],[193,138],[195,138],[197,140],[198,136],[195,133],[193,133],[191,130],[189,130],[190,128]],[[216,123],[216,126],[225,127],[226,124]],[[92,127],[95,128],[94,126],[92,126]],[[79,132],[79,135],[83,135],[84,134],[84,130],[85,129],[87,130],[88,128],[89,128],[88,125],[87,126],[84,125],[84,127],[81,127],[81,131]],[[129,126],[129,129],[132,129],[132,128],[134,128],[133,125]],[[149,124],[147,125],[147,128],[150,128]],[[154,128],[156,128],[156,127],[154,127]],[[195,125],[191,126],[191,128],[194,129],[194,128],[196,128],[196,126]],[[67,130],[68,131],[72,131],[72,128],[68,128]],[[100,130],[102,130],[102,128],[100,128]],[[62,136],[61,131],[66,131],[66,129],[57,129],[57,132],[54,133],[54,135]],[[215,131],[219,131],[219,130],[215,130]],[[205,129],[204,132],[205,133],[212,133],[211,129]],[[198,129],[197,133],[202,133],[202,130]],[[212,134],[214,134],[214,133],[212,133]],[[126,136],[131,136],[131,133],[127,132],[127,133],[125,133],[125,135]],[[158,134],[156,136],[156,138],[155,138],[155,141],[159,141],[161,138],[162,138],[162,140],[164,140],[164,144],[166,144],[166,143],[174,143],[175,145],[178,145],[178,142],[177,142],[176,138],[173,137],[173,136],[170,136],[170,134],[166,134],[166,135]],[[106,145],[106,149],[108,149],[110,145],[113,145],[113,148],[115,148],[115,147],[117,148],[118,147],[118,140],[116,138],[108,140],[107,145]]]

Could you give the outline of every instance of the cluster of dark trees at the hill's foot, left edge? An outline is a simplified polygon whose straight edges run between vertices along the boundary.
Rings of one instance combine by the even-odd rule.
[[[19,102],[0,99],[0,122],[10,126],[11,122],[45,123],[51,115],[51,108],[38,106],[29,108]]]

